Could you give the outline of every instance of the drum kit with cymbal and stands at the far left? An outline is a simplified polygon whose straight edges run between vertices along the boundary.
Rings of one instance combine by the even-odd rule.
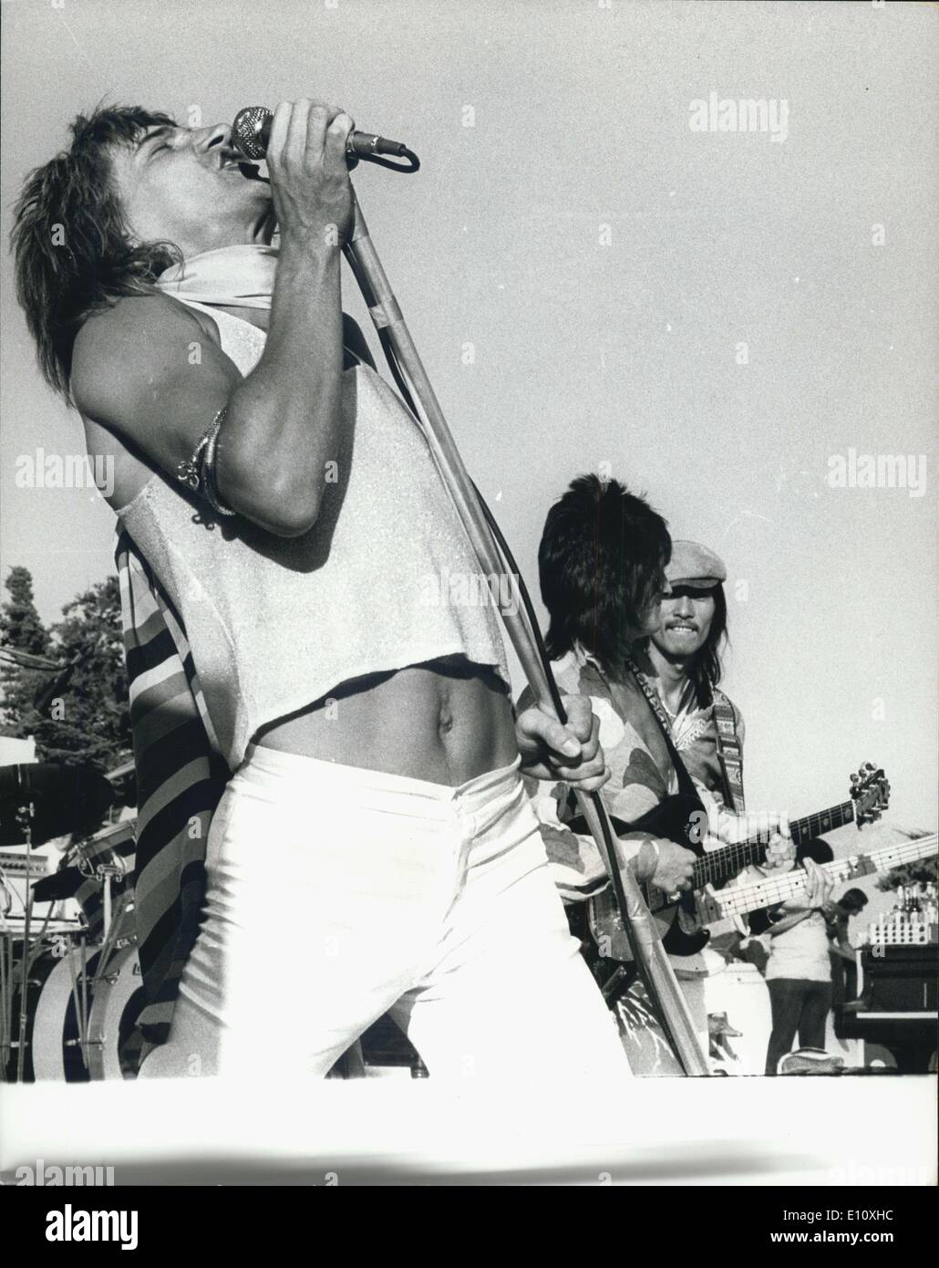
[[[0,767],[0,1082],[136,1077],[134,820],[84,831],[113,813],[117,773]],[[49,871],[42,847],[65,837]]]

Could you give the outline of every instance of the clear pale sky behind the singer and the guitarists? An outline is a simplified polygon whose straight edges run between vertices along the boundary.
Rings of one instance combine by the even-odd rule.
[[[749,804],[839,803],[871,760],[891,822],[935,828],[935,6],[0,13],[5,230],[24,175],[100,99],[213,123],[313,95],[404,139],[421,172],[362,165],[356,190],[532,590],[574,476],[648,493],[727,564]],[[763,131],[720,107],[740,99],[767,101]],[[16,484],[37,449],[81,454],[82,437],[38,377],[6,252],[0,283],[0,572],[25,564],[53,620],[113,571],[113,517],[94,489]],[[345,293],[367,328],[351,278]],[[862,487],[866,455],[879,487]]]

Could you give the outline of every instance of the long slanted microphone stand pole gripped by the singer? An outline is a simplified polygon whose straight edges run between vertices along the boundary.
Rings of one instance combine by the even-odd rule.
[[[507,566],[497,540],[501,534],[487,520],[479,492],[463,464],[440,402],[431,387],[431,380],[369,236],[357,198],[355,199],[355,226],[343,251],[362,292],[381,346],[389,358],[395,380],[425,432],[441,479],[450,493],[483,573],[487,576],[506,574],[511,578],[513,595],[517,600],[512,605],[514,615],[508,611],[501,611],[501,615],[535,699],[545,713],[564,720],[558,687],[550,680],[550,671],[546,670],[546,662],[540,654],[537,623],[525,604],[527,596],[522,593],[518,577]],[[413,388],[413,394],[408,385]],[[526,624],[522,612],[528,616],[528,624]],[[577,792],[577,800],[613,884],[636,966],[649,992],[653,1008],[658,1012],[663,1028],[672,1038],[684,1073],[688,1075],[710,1074],[691,1012],[668,955],[661,946],[661,938],[639,884],[627,867],[621,871],[617,866],[615,836],[606,808],[596,792],[589,795]]]

